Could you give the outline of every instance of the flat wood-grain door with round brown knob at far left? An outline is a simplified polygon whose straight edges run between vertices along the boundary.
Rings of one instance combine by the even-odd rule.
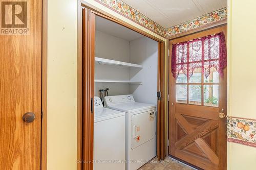
[[[9,1],[10,2],[10,1]],[[20,2],[20,1],[19,1]],[[8,23],[13,29],[27,28],[0,35],[0,169],[40,169],[41,149],[41,21],[42,2],[24,1],[19,6],[12,1],[11,13],[16,15],[23,9],[22,16]],[[7,8],[1,3],[1,9]],[[16,5],[16,6],[15,6]],[[15,7],[14,7],[15,6]],[[26,10],[25,10],[26,8]],[[10,12],[10,11],[9,11]],[[1,13],[2,19],[4,16]],[[14,18],[14,16],[13,16]],[[19,26],[16,26],[18,19]],[[27,20],[24,20],[27,19]],[[8,18],[7,18],[8,20]],[[22,25],[26,25],[23,27]],[[17,27],[17,28],[15,28]],[[9,30],[9,28],[7,28]],[[15,31],[15,30],[14,30]],[[24,33],[24,34],[23,34]],[[14,35],[15,34],[15,35]],[[23,116],[27,112],[26,123]]]

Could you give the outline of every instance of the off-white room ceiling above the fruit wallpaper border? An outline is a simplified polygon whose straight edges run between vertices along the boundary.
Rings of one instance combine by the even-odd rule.
[[[169,28],[227,7],[227,0],[122,0],[160,26]]]

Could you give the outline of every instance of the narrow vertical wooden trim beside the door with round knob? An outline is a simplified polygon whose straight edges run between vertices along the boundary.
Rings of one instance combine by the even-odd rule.
[[[41,170],[47,169],[47,39],[48,0],[42,0],[42,91],[41,91]]]

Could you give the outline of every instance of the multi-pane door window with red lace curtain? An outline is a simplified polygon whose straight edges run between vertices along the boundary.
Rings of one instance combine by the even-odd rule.
[[[177,103],[219,107],[219,74],[226,65],[222,37],[220,33],[173,45]]]

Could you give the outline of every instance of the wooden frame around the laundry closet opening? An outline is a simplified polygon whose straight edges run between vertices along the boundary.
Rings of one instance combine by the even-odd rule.
[[[122,25],[126,28],[129,28],[133,31],[136,31],[148,38],[151,38],[155,41],[158,42],[158,76],[160,76],[158,78],[158,90],[161,92],[161,111],[159,111],[158,113],[158,125],[160,124],[161,126],[158,127],[158,134],[159,137],[157,138],[157,150],[160,151],[160,153],[158,153],[158,157],[161,159],[164,159],[166,156],[166,145],[167,145],[167,141],[166,141],[166,129],[165,129],[165,113],[166,113],[166,108],[165,106],[165,89],[166,89],[166,84],[165,84],[165,41],[155,37],[153,35],[151,35],[150,33],[147,33],[143,30],[138,29],[137,27],[130,25],[129,23],[124,22],[123,20],[114,17],[108,13],[101,13],[98,11],[98,9],[96,9],[95,7],[92,6],[88,6],[89,4],[87,4],[85,1],[80,1],[78,0],[78,47],[77,47],[77,53],[78,53],[78,58],[77,58],[77,160],[82,160],[82,150],[83,150],[83,146],[82,146],[82,139],[84,139],[84,133],[82,132],[82,122],[84,121],[82,119],[82,8],[88,8],[90,9],[90,11],[94,14],[94,15],[98,15],[101,16],[105,19],[114,21],[116,23],[118,23],[119,25]],[[94,83],[94,82],[93,82]],[[89,102],[89,101],[88,101]],[[161,113],[161,114],[160,114]],[[91,134],[93,134],[93,128],[91,129]],[[91,152],[91,156],[93,156],[93,150],[90,150]],[[91,157],[91,159],[93,159],[93,157]],[[92,169],[93,167],[90,166],[89,169]],[[82,169],[82,163],[81,162],[77,162],[77,169]]]

